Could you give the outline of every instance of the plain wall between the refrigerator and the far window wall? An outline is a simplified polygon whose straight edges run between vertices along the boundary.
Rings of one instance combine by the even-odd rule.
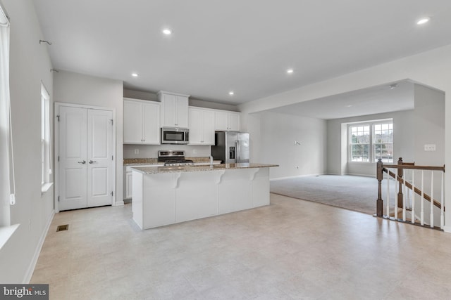
[[[271,168],[271,178],[324,174],[326,121],[278,112],[261,112],[252,117],[259,121],[248,127],[251,161],[278,164]]]

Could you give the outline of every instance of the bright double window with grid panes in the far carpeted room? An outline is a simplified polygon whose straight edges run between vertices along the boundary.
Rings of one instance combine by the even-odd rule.
[[[393,120],[351,124],[350,162],[393,162]]]

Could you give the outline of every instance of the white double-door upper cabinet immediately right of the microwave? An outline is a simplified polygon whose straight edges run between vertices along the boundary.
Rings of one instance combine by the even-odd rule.
[[[190,145],[214,145],[214,110],[190,107]]]

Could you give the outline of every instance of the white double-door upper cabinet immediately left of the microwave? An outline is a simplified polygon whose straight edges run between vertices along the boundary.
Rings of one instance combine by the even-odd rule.
[[[124,144],[160,144],[160,103],[124,98]]]

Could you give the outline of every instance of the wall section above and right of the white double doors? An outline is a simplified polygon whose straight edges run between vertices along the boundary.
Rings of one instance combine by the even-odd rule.
[[[54,101],[116,110],[116,203],[123,202],[123,81],[60,71],[54,75]],[[57,155],[57,154],[56,154]]]

